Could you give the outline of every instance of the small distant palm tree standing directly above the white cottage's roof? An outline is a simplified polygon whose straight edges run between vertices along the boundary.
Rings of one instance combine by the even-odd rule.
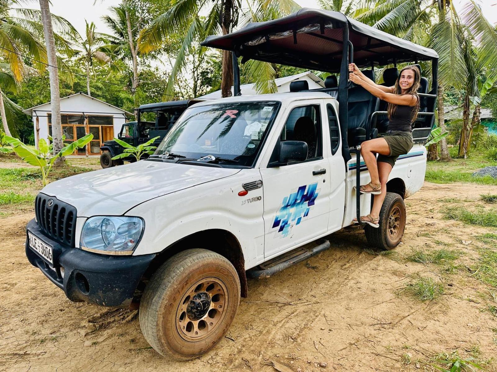
[[[73,39],[76,47],[81,49],[77,52],[80,55],[79,61],[82,61],[86,67],[86,91],[88,96],[91,96],[90,92],[90,75],[94,70],[93,66],[95,61],[98,62],[112,62],[115,59],[115,50],[118,48],[116,44],[111,44],[114,39],[113,36],[95,32],[95,24],[93,22],[88,23],[85,20],[86,28],[83,36],[75,31],[70,37]],[[115,68],[115,65],[112,64]]]

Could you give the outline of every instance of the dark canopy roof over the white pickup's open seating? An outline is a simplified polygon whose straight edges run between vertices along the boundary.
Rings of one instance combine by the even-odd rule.
[[[244,60],[254,59],[296,67],[335,72],[340,68],[342,28],[349,27],[354,62],[365,67],[393,62],[438,59],[429,48],[390,35],[329,10],[302,8],[266,22],[249,23],[223,36],[209,36],[203,46],[235,51]]]

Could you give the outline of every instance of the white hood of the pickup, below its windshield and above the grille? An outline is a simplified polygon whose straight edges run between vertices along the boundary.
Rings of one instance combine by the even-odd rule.
[[[144,201],[239,171],[142,160],[68,177],[48,184],[41,192],[74,205],[78,217],[122,215]]]

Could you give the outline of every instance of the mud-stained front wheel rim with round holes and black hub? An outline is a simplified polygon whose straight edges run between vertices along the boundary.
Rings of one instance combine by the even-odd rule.
[[[176,329],[186,341],[200,341],[222,323],[228,291],[217,278],[193,284],[181,298],[176,311]]]

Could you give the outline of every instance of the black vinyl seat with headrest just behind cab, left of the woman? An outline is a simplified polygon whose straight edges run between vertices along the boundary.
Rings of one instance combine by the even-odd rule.
[[[364,70],[362,73],[375,81],[373,70]],[[353,86],[348,90],[348,145],[360,144],[366,139],[366,126],[371,114],[378,111],[378,98],[361,86]]]

